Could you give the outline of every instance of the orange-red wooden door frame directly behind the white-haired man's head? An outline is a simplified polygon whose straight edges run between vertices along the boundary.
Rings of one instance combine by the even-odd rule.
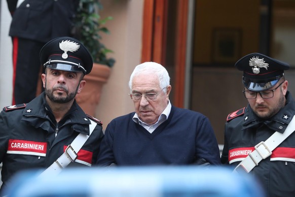
[[[185,96],[188,1],[145,0],[143,14],[141,61],[155,61],[166,67],[167,59],[173,58],[173,72],[168,71],[174,90],[170,99],[173,100],[174,106],[181,108]],[[175,21],[171,22],[171,19]],[[172,41],[169,37],[171,34]],[[173,49],[167,49],[170,42],[174,42]],[[171,50],[173,57],[167,53]]]

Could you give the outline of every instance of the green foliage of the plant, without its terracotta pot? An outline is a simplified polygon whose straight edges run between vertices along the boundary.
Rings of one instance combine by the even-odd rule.
[[[92,55],[95,63],[101,63],[113,67],[114,58],[107,58],[107,53],[113,52],[101,42],[100,33],[110,34],[109,30],[102,26],[113,17],[100,19],[99,10],[102,5],[98,0],[80,0],[75,18],[75,38],[84,44]]]

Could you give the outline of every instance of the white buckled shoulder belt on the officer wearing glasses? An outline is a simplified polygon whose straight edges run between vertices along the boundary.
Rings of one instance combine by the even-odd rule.
[[[275,132],[265,142],[261,142],[255,146],[255,150],[248,154],[244,160],[234,169],[233,172],[246,172],[249,173],[258,163],[269,157],[272,151],[281,144],[288,136],[290,136],[295,130],[295,115],[288,124],[284,133]]]

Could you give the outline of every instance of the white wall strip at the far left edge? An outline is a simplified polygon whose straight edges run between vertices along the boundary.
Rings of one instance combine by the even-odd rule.
[[[12,103],[12,42],[8,36],[11,16],[6,0],[0,10],[0,111]]]

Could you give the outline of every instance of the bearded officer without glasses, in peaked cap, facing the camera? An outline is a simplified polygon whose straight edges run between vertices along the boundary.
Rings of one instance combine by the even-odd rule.
[[[59,37],[44,45],[40,61],[45,67],[45,91],[28,104],[8,106],[0,113],[1,194],[15,173],[45,170],[65,150],[74,154],[69,166],[90,167],[97,159],[102,124],[85,114],[75,100],[86,84],[84,75],[92,69],[89,51],[76,39]],[[71,143],[80,134],[88,139],[76,154]]]

